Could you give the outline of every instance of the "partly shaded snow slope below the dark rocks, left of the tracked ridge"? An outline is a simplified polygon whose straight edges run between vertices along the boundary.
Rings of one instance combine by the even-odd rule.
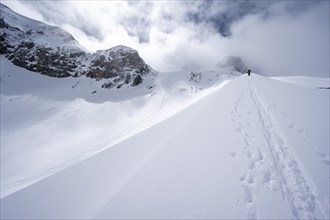
[[[231,77],[191,82],[189,72],[164,73],[152,90],[148,81],[105,90],[102,80],[50,78],[3,57],[0,64],[1,198],[170,117]]]

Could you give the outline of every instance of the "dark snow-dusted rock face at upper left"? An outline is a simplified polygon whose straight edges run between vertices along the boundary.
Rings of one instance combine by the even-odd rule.
[[[50,77],[106,79],[103,88],[137,86],[156,76],[136,50],[116,46],[87,53],[60,28],[20,16],[2,4],[0,10],[0,54],[17,66]]]

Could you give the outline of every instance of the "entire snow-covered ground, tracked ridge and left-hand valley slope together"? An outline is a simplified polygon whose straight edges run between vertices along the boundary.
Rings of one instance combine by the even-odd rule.
[[[1,217],[328,219],[329,91],[256,74],[205,89],[211,76],[111,102],[83,79],[74,91],[98,96],[6,88],[1,117],[31,117],[1,120]]]

